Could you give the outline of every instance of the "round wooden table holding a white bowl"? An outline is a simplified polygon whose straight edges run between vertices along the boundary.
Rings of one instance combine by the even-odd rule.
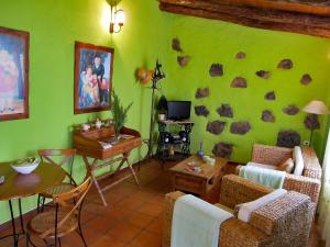
[[[8,201],[11,214],[14,246],[19,244],[19,234],[15,229],[12,200],[19,200],[21,227],[24,233],[21,199],[38,194],[61,183],[66,173],[61,166],[50,162],[41,162],[30,175],[20,175],[8,162],[0,162],[0,176],[4,176],[4,182],[0,184],[0,201]],[[10,235],[11,236],[11,235]],[[8,237],[8,236],[4,236]],[[1,237],[0,239],[4,238]]]

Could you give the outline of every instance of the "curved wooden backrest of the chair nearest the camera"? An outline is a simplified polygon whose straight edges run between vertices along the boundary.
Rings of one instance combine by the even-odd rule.
[[[57,228],[62,227],[73,215],[77,215],[80,218],[80,212],[82,209],[84,199],[92,184],[91,178],[88,177],[85,181],[76,188],[53,195],[54,203],[56,204],[55,228],[50,228],[41,234],[42,238],[46,238],[53,235]],[[73,203],[74,202],[74,203]],[[66,209],[66,214],[61,221],[57,221],[58,209]]]

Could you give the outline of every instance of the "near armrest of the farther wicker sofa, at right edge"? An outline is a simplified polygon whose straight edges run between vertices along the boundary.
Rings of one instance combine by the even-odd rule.
[[[307,194],[312,202],[318,203],[321,181],[319,179],[287,173],[284,179],[283,188]]]

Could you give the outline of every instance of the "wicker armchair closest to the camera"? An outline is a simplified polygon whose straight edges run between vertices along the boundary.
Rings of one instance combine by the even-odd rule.
[[[220,203],[233,210],[235,205],[253,201],[271,191],[272,189],[229,175],[222,178]],[[174,203],[184,193],[179,191],[166,194],[163,247],[170,246]],[[307,195],[289,191],[286,195],[254,211],[250,223],[237,217],[223,222],[219,229],[219,247],[306,247],[315,206]]]

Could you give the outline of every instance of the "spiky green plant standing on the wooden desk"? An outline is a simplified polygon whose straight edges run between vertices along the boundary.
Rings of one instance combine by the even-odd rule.
[[[118,94],[112,90],[112,105],[111,105],[111,113],[113,117],[113,128],[114,128],[114,137],[116,141],[119,141],[120,131],[123,127],[124,123],[128,121],[128,112],[132,106],[133,102],[131,102],[127,108],[124,108]]]

